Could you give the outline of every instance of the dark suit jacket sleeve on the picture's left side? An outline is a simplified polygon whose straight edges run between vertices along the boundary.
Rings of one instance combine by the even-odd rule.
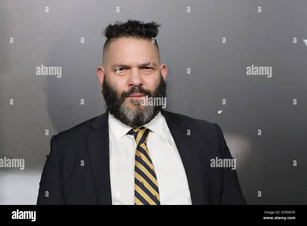
[[[62,173],[60,171],[60,165],[56,153],[56,135],[53,135],[51,138],[50,153],[46,157],[47,160],[41,174],[36,204],[66,204]]]

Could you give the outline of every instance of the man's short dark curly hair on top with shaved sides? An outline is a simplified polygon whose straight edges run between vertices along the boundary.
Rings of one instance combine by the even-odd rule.
[[[114,39],[122,37],[133,37],[137,39],[149,39],[156,38],[159,33],[158,27],[161,25],[156,22],[150,22],[144,24],[138,20],[127,20],[127,22],[116,21],[114,25],[109,24],[103,31],[103,35],[107,38],[103,46],[103,52],[107,50]],[[159,46],[157,40],[155,40],[155,46],[159,52]]]

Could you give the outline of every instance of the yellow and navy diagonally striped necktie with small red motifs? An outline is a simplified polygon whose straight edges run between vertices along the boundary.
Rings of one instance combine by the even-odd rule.
[[[134,156],[135,205],[160,205],[157,176],[146,144],[149,132],[150,129],[142,126],[127,133],[134,135],[137,145]]]

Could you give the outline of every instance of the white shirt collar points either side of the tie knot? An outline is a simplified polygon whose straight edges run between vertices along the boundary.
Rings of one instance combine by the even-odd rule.
[[[129,132],[130,129],[132,129],[132,127],[125,125],[121,121],[114,118],[110,113],[108,113],[108,114],[109,114],[109,116],[108,116],[109,127],[112,130],[112,132],[114,133],[117,140],[122,138],[126,133]],[[151,131],[153,131],[154,133],[160,134],[162,136],[163,135],[163,118],[162,117],[163,116],[161,114],[161,111],[159,111],[159,113],[156,115],[156,117],[154,117],[149,123],[144,124],[142,126],[148,128]],[[139,126],[139,127],[141,127],[141,126]]]

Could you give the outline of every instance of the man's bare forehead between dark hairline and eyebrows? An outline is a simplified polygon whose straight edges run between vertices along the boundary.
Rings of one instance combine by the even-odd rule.
[[[157,63],[158,51],[149,39],[118,38],[111,42],[108,50],[108,63]]]

